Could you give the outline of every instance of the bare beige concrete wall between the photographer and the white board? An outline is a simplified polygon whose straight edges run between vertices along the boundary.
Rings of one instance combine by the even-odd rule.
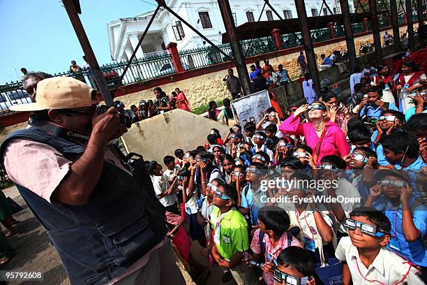
[[[144,156],[144,160],[156,160],[163,164],[163,157],[174,156],[181,148],[184,152],[204,145],[209,131],[218,129],[225,138],[229,126],[183,110],[172,110],[132,125],[123,135],[128,152]]]

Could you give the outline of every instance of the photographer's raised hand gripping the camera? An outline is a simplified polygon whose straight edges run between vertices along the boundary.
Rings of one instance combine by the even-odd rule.
[[[96,112],[92,117],[92,126],[92,134],[96,134],[105,142],[119,138],[128,131],[126,126],[120,124],[120,115],[115,107],[109,108],[103,114]]]

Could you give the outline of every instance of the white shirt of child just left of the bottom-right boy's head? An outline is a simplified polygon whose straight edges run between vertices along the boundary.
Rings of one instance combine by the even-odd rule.
[[[320,210],[319,212],[320,214],[322,214],[324,221],[328,224],[328,226],[332,228],[332,220],[329,217],[329,211],[322,204],[318,205],[318,207]],[[306,237],[306,238],[309,238],[310,240],[315,241],[315,247],[317,249],[321,245],[324,245],[327,243],[323,242],[322,238],[320,237],[320,233],[317,230],[314,213],[315,212],[311,210],[310,205],[308,205],[307,209],[301,214],[298,214],[297,210],[295,210],[294,205],[292,205],[291,208],[287,209],[287,214],[290,217],[291,226],[297,226],[301,229],[301,231],[299,231],[299,237],[298,237],[299,240],[301,241],[301,244],[304,244],[304,237]]]

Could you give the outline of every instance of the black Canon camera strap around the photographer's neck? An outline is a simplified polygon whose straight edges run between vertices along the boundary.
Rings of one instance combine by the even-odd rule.
[[[89,133],[84,133],[82,131],[76,131],[74,129],[67,129],[63,126],[59,126],[52,122],[42,121],[38,119],[34,119],[33,117],[29,118],[28,124],[30,126],[36,127],[38,129],[42,129],[47,133],[50,133],[54,136],[59,136],[60,138],[65,138],[66,140],[81,140],[82,142],[88,142],[90,138]],[[107,145],[112,145],[116,140],[110,140]]]

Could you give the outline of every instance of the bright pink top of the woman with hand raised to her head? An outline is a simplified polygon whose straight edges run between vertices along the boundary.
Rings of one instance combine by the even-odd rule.
[[[320,160],[325,155],[344,157],[350,153],[350,145],[345,140],[343,131],[336,124],[329,121],[326,123],[325,128],[327,128],[327,131],[320,146],[319,156],[315,161],[317,166],[320,165]],[[279,130],[285,134],[304,136],[306,144],[313,149],[314,155],[320,138],[317,136],[313,123],[300,123],[299,117],[295,118],[292,114],[280,125]]]

